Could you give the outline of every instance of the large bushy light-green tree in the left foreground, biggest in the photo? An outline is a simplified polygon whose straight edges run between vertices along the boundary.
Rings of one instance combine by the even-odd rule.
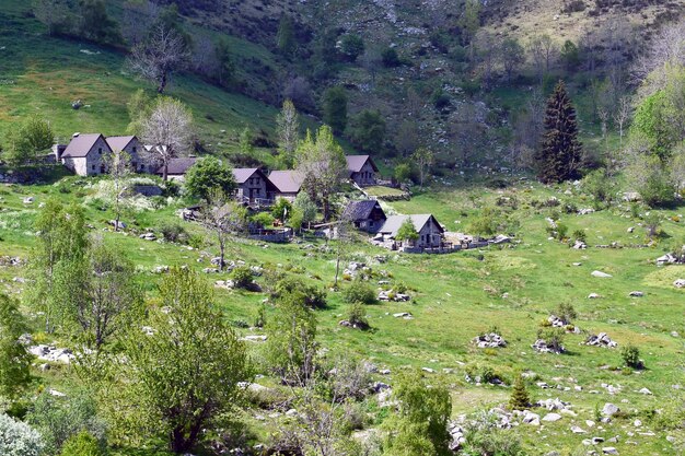
[[[166,436],[175,453],[190,451],[210,425],[233,418],[251,372],[244,342],[214,307],[211,288],[174,269],[159,288],[160,306],[126,342],[127,362],[116,378],[120,413],[135,413],[138,430]]]

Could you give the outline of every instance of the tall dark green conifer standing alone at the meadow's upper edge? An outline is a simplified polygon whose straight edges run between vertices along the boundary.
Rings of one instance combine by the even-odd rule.
[[[559,81],[547,101],[545,133],[536,154],[538,177],[544,183],[559,183],[578,177],[582,144],[578,141],[576,109]]]

